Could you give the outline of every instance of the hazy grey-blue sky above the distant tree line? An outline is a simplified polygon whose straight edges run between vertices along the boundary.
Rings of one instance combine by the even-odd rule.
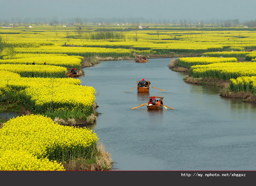
[[[255,20],[256,0],[0,0],[1,20],[128,18]]]

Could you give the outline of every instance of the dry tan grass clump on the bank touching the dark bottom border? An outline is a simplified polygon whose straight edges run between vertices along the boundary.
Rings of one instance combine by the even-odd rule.
[[[67,171],[105,171],[113,169],[113,160],[102,143],[99,143],[97,150],[91,153],[94,158],[76,158],[68,163],[64,162],[63,167]]]

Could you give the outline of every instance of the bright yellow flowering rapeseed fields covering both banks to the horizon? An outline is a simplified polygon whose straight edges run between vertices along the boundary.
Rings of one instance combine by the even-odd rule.
[[[138,55],[147,59],[181,57],[177,66],[189,68],[192,77],[228,80],[232,82],[229,88],[234,92],[256,94],[256,29],[154,25],[151,29],[137,29],[93,24],[32,26],[0,28],[0,104],[21,102],[31,114],[3,124],[0,132],[2,136],[6,135],[6,145],[0,147],[0,160],[3,160],[0,170],[65,170],[67,166],[62,165],[70,160],[70,154],[75,160],[87,157],[93,151],[98,155],[98,136],[86,128],[94,124],[99,114],[96,112],[97,90],[82,85],[79,79],[66,77],[68,68],[82,72],[85,62],[109,58],[132,60]],[[44,62],[47,65],[43,65]],[[76,128],[81,120],[86,124],[83,130]],[[17,122],[31,126],[16,130]],[[19,138],[13,139],[8,132],[12,131],[20,139],[25,139],[26,135],[37,138],[40,134],[34,137],[29,130],[37,128],[45,133],[42,123],[47,123],[52,131],[33,143],[37,146],[34,151],[24,145],[25,140],[11,145],[13,140],[19,142]],[[69,136],[65,137],[67,131]],[[61,140],[43,143],[55,132]],[[72,141],[80,134],[85,141]],[[20,166],[19,162],[24,160],[16,155],[27,157],[31,164],[26,161],[26,166]],[[7,163],[6,158],[14,161]],[[103,167],[111,169],[111,166]]]

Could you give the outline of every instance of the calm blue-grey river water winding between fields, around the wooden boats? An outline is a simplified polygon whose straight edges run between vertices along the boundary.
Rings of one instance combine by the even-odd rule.
[[[256,104],[185,83],[185,73],[168,68],[171,58],[129,61],[102,61],[84,68],[88,76],[80,78],[97,91],[101,114],[89,128],[111,154],[115,170],[256,170]],[[132,88],[142,78],[167,91],[151,87],[138,93]],[[149,96],[164,97],[163,104],[176,110],[131,110]]]

